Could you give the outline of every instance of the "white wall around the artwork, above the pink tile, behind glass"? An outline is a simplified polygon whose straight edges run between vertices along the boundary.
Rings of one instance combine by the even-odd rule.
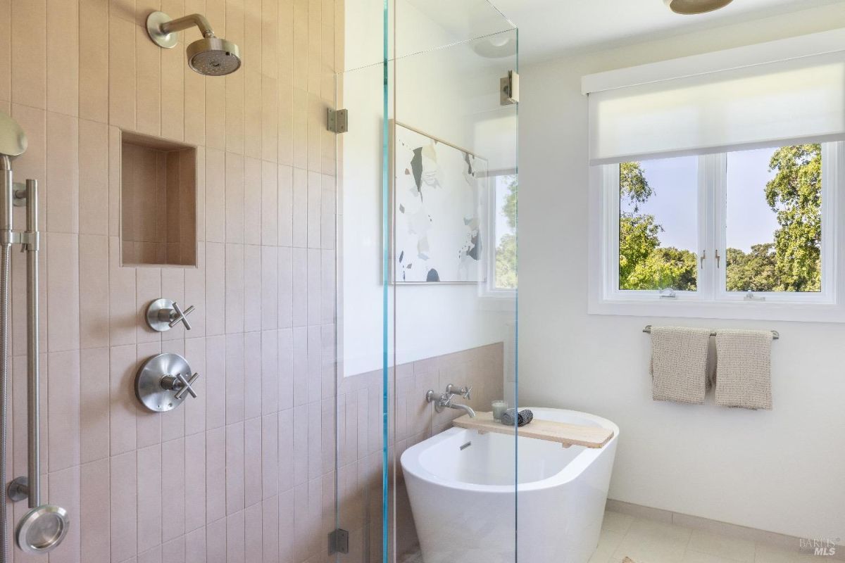
[[[347,68],[373,62],[381,35],[372,22],[380,17],[369,0],[346,8]],[[378,7],[376,7],[378,8]],[[397,6],[397,48],[446,45],[454,33],[417,11],[411,3]],[[378,41],[374,41],[375,37]],[[380,55],[376,55],[380,56]],[[352,62],[352,63],[350,63]],[[499,106],[499,74],[506,62],[477,57],[469,46],[453,46],[404,57],[390,68],[395,117],[434,137],[491,159],[491,169],[514,166],[515,108]],[[351,376],[382,365],[382,68],[347,72],[343,106],[350,111],[350,131],[342,150],[341,300],[342,359]],[[510,116],[510,122],[508,122]],[[501,122],[494,132],[487,126]],[[509,129],[510,127],[510,129]],[[510,143],[511,160],[505,161]],[[393,294],[395,291],[395,295]],[[475,284],[399,285],[390,294],[390,361],[406,363],[444,355],[506,338],[502,311],[479,295]],[[395,320],[395,322],[394,322]],[[460,383],[460,382],[455,382]]]

